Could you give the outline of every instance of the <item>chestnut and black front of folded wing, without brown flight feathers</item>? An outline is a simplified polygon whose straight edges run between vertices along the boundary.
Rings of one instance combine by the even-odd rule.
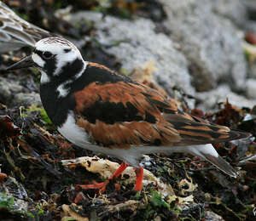
[[[129,148],[180,140],[177,130],[161,116],[163,109],[174,113],[177,106],[150,88],[131,82],[92,82],[74,96],[77,122],[97,144]]]

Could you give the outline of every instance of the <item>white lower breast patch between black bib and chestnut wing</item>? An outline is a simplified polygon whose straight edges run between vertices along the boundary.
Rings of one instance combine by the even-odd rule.
[[[57,129],[62,136],[64,136],[73,144],[81,145],[83,143],[86,143],[88,140],[88,135],[84,131],[84,128],[79,127],[75,123],[73,111],[68,112],[66,122],[61,127],[58,127]]]

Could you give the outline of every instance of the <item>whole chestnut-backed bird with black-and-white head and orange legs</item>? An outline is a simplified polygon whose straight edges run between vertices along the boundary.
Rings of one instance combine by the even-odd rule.
[[[184,152],[211,162],[236,178],[213,143],[242,139],[250,133],[207,122],[179,110],[174,99],[143,83],[84,60],[79,49],[62,37],[39,40],[32,54],[7,71],[36,67],[41,71],[40,97],[58,132],[77,146],[123,161],[102,183],[80,188],[106,190],[129,165],[137,176],[135,191],[143,189],[144,154]]]

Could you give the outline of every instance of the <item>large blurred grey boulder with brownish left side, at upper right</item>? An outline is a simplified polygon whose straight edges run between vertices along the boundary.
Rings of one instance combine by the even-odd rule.
[[[171,29],[170,37],[181,45],[198,91],[217,87],[219,81],[242,88],[247,65],[236,26],[213,12],[207,0],[160,0]],[[215,8],[216,10],[216,8]]]

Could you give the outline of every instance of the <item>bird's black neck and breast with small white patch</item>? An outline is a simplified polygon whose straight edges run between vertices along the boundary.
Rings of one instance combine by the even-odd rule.
[[[50,76],[42,71],[42,104],[56,126],[61,126],[67,119],[68,111],[75,108],[75,100],[71,96],[72,84],[83,75],[86,65],[84,60],[76,59],[73,63],[63,66],[56,76]]]

